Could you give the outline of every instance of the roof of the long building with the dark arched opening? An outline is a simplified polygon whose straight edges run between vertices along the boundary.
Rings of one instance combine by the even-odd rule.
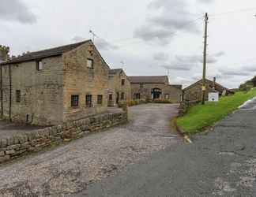
[[[129,76],[131,84],[168,84],[168,76]]]

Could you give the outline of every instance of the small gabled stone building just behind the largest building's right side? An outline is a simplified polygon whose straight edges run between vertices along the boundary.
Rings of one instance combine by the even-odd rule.
[[[108,72],[108,106],[119,102],[130,102],[130,80],[122,69],[111,69]]]

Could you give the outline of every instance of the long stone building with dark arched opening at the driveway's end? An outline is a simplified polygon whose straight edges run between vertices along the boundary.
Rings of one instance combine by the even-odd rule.
[[[169,84],[168,76],[129,76],[134,100],[180,102],[182,85]]]

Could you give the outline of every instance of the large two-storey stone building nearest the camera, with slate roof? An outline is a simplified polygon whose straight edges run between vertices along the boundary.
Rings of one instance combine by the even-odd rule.
[[[57,125],[107,110],[109,66],[91,40],[7,60],[1,48],[1,117]]]

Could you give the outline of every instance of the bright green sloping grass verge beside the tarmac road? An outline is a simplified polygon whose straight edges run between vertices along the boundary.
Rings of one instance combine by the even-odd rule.
[[[245,92],[236,92],[235,95],[220,98],[220,102],[206,102],[190,107],[184,117],[179,117],[177,123],[187,134],[201,132],[214,125],[249,99],[256,96],[256,89]]]

